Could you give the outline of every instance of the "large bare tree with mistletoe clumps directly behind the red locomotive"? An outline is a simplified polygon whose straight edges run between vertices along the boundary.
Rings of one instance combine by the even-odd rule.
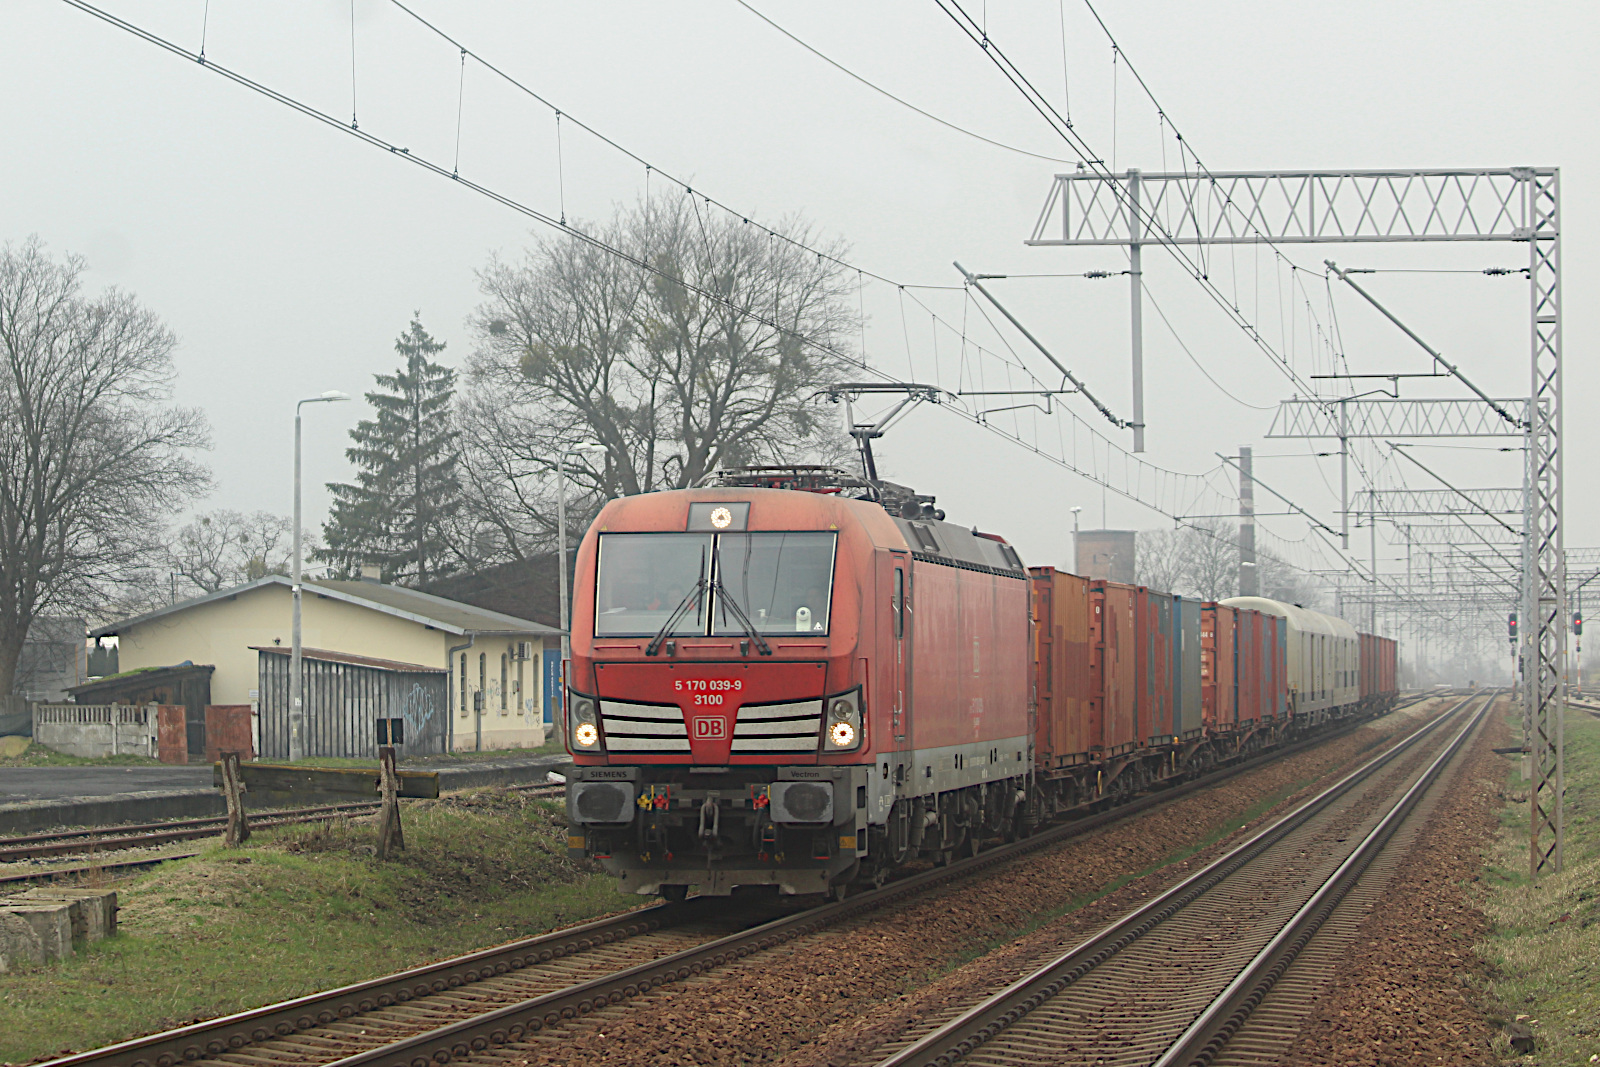
[[[574,464],[579,517],[603,498],[694,485],[722,466],[840,451],[837,421],[814,402],[848,376],[837,350],[856,323],[835,261],[691,197],[646,202],[592,230],[656,270],[555,238],[478,275],[486,302],[459,408],[474,453],[464,482],[480,494],[477,522],[496,525],[514,557],[549,544],[549,475],[576,442],[605,446],[603,461]],[[822,243],[794,221],[786,232]]]

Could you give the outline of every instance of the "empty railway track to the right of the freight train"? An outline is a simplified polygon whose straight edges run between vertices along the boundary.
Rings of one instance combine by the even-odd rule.
[[[1379,859],[1386,845],[1416,832],[1408,819],[1494,696],[1467,696],[1238,848],[894,1049],[878,1067],[1277,1062],[1338,963],[1341,937],[1355,931],[1376,891],[1363,889],[1363,873],[1374,862],[1397,862],[1400,849]]]

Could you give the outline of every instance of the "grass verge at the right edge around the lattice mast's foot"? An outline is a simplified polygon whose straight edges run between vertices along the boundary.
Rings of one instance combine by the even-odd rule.
[[[1520,720],[1514,721],[1520,733]],[[1528,880],[1528,784],[1507,760],[1501,832],[1486,857],[1480,952],[1507,1017],[1528,1016],[1531,1064],[1587,1064],[1600,1054],[1600,720],[1566,715],[1565,864]],[[1501,1049],[1506,1053],[1507,1049]]]

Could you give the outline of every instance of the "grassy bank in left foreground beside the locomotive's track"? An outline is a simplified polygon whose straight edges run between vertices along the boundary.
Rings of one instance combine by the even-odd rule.
[[[0,1062],[85,1049],[526,937],[640,904],[566,859],[560,808],[477,790],[371,821],[285,827],[118,886],[120,933],[0,974]]]

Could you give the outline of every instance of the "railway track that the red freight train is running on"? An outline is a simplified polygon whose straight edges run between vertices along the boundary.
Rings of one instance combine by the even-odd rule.
[[[1358,725],[1352,723],[1349,729]],[[768,913],[763,915],[758,909],[730,907],[717,899],[661,904],[403,974],[69,1056],[51,1061],[48,1067],[176,1067],[195,1061],[232,1067],[438,1067],[483,1049],[533,1040],[541,1030],[598,1008],[688,981],[750,953],[816,934],[930,888],[1126,819],[1339,733],[1240,761],[1133,803],[1042,830],[1027,840],[821,907],[794,910],[765,899],[762,907]],[[786,913],[771,915],[774,909]]]

